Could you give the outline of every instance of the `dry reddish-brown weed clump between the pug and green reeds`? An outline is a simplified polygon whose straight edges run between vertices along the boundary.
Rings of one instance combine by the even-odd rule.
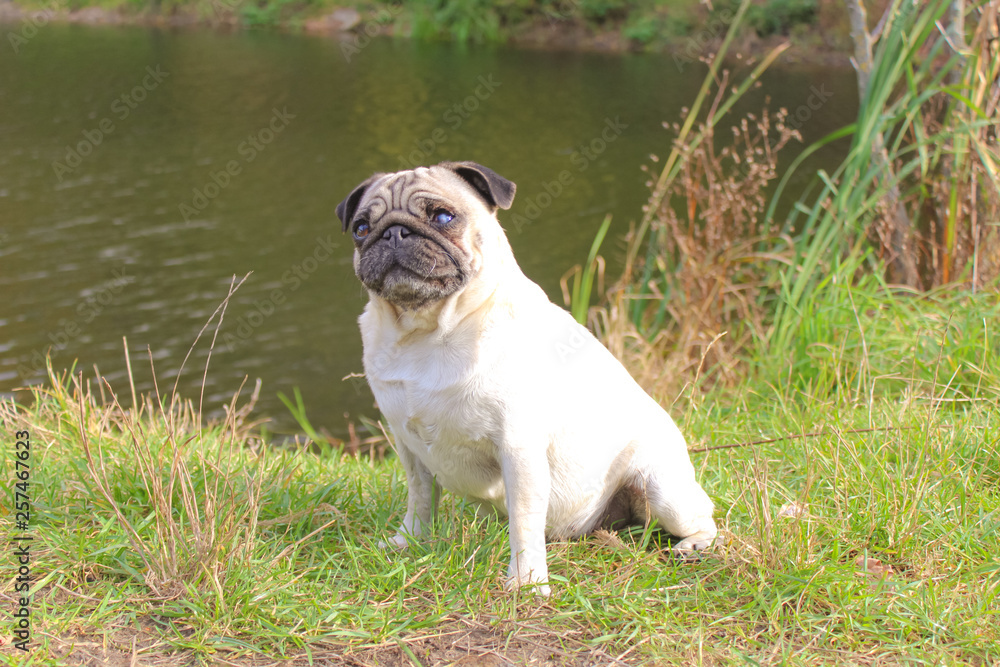
[[[792,240],[763,220],[778,153],[800,139],[786,118],[784,109],[750,114],[720,150],[708,122],[699,126],[704,141],[677,142],[680,177],[666,196],[650,198],[650,250],[625,267],[607,304],[591,309],[591,326],[654,395],[676,395],[684,377],[731,383],[743,346],[766,333],[776,268],[794,253]],[[634,230],[626,242],[627,255],[639,256]],[[643,275],[646,282],[636,284]]]

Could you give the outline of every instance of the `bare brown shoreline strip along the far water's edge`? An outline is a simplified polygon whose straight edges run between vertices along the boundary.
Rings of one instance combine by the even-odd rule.
[[[355,9],[337,8],[318,17],[296,16],[267,26],[248,26],[232,11],[215,16],[201,15],[197,10],[177,7],[172,13],[153,11],[137,13],[123,12],[104,7],[82,7],[67,10],[54,7],[60,0],[52,0],[49,7],[25,8],[11,0],[0,0],[0,30],[6,40],[17,51],[18,42],[33,36],[33,31],[49,23],[89,26],[135,26],[146,28],[166,28],[173,30],[213,30],[218,32],[242,32],[266,30],[282,34],[301,34],[336,39],[345,48],[357,47],[359,41],[373,37],[394,37],[398,39],[418,39],[407,34],[405,26],[394,22],[391,13],[382,9],[362,15]],[[220,0],[225,2],[225,0]],[[397,12],[398,14],[398,12]],[[12,27],[20,26],[20,30]],[[812,30],[807,39],[813,44],[802,44],[799,40],[784,36],[766,38],[744,31],[736,38],[731,49],[740,58],[758,58],[785,41],[791,41],[791,48],[778,58],[781,64],[809,64],[831,67],[850,66],[850,53],[830,46],[821,31]],[[27,34],[25,34],[27,33]],[[536,19],[511,29],[506,39],[495,42],[501,46],[543,51],[577,51],[583,53],[657,53],[674,55],[688,61],[696,61],[716,51],[725,36],[725,26],[702,26],[692,34],[655,45],[642,45],[624,36],[621,29],[596,29],[579,19]],[[426,41],[426,40],[425,40]],[[447,40],[431,40],[447,41]],[[822,42],[822,43],[821,43]],[[359,48],[359,47],[357,47]]]

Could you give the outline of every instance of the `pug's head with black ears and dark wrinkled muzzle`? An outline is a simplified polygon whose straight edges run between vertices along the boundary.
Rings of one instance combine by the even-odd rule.
[[[337,205],[370,292],[415,310],[464,289],[483,265],[515,185],[475,162],[375,174]],[[500,231],[502,234],[502,230]]]

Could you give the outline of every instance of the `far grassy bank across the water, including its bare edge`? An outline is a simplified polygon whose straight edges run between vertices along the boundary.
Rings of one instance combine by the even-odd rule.
[[[514,42],[603,50],[690,49],[717,42],[736,0],[12,0],[0,18],[89,23],[206,24],[342,32],[368,39],[389,34],[458,42]],[[10,18],[8,16],[8,18]],[[743,29],[744,46],[792,38],[805,51],[846,51],[847,19],[839,0],[758,0]]]

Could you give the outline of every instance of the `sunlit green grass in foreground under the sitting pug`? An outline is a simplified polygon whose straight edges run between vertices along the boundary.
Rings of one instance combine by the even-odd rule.
[[[261,443],[236,401],[225,424],[200,428],[190,406],[108,397],[101,407],[96,389],[53,376],[31,407],[2,408],[4,432],[35,441],[36,536],[33,647],[3,655],[37,665],[133,655],[430,665],[489,651],[515,664],[1000,660],[1000,322],[993,313],[985,329],[951,336],[982,317],[981,303],[956,298],[937,320],[865,304],[838,345],[813,343],[818,377],[841,381],[756,377],[673,409],[695,450],[784,438],[692,453],[724,544],[690,563],[642,530],[550,544],[548,601],[504,592],[505,525],[448,494],[429,538],[379,549],[405,505],[394,459]],[[885,322],[907,312],[925,321],[916,347],[929,347],[900,357],[910,374],[886,383],[874,367],[898,340]],[[974,349],[955,356],[949,336]],[[953,357],[961,395],[935,381]],[[805,433],[819,435],[796,437]],[[12,521],[0,519],[7,534]],[[12,588],[5,578],[5,599]]]

